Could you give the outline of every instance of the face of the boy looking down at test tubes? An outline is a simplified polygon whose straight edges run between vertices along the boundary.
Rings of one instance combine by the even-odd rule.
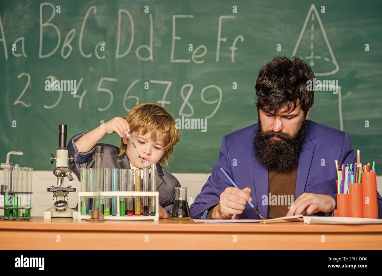
[[[133,140],[138,149],[138,153],[141,155],[143,160],[142,163],[130,139],[123,136],[123,143],[126,145],[126,154],[131,164],[141,169],[151,167],[151,164],[157,164],[164,153],[163,142],[151,140],[151,133],[142,135],[141,132],[138,133],[135,131],[130,134],[131,139]]]

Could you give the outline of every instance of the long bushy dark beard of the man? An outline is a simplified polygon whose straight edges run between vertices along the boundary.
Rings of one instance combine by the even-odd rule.
[[[253,141],[254,154],[259,162],[268,170],[288,171],[298,164],[298,157],[305,140],[306,120],[295,136],[281,131],[262,131],[261,121],[258,119],[256,137]],[[281,138],[274,139],[272,137]]]

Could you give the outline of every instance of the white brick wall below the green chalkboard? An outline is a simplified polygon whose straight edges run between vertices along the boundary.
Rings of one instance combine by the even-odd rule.
[[[186,174],[186,173],[173,173],[179,180],[181,187],[188,187],[187,197],[192,197],[193,200],[200,193],[204,183],[207,182],[210,174]],[[32,178],[32,216],[44,216],[44,211],[53,204],[52,192],[47,192],[50,185],[56,186],[57,178],[50,170],[36,170],[33,171]],[[3,183],[3,170],[0,170],[0,183]],[[80,192],[80,182],[74,175],[74,180],[69,182],[65,179],[63,185],[68,186],[68,183]],[[382,175],[377,176],[377,190],[382,194]],[[78,201],[77,192],[70,193],[69,206],[75,208]],[[3,210],[0,210],[0,215],[3,215]]]

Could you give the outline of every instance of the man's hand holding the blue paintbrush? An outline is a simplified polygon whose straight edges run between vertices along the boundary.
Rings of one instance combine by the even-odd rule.
[[[252,201],[251,189],[246,187],[240,190],[235,187],[228,187],[220,194],[219,204],[212,211],[212,218],[228,219],[233,214],[241,214],[245,209],[247,201]]]

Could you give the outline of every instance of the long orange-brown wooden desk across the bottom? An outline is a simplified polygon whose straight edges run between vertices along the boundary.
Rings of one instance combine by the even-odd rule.
[[[382,249],[382,226],[34,217],[0,221],[0,249]]]

